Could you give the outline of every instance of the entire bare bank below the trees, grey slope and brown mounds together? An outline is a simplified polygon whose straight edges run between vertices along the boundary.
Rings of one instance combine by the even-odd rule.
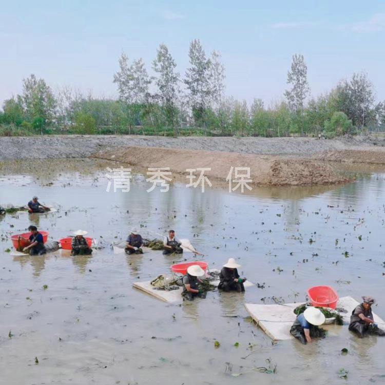
[[[208,176],[225,179],[231,166],[250,167],[256,185],[347,182],[325,161],[385,164],[384,140],[313,138],[167,138],[143,136],[34,136],[0,138],[0,161],[97,157],[133,166],[211,167]]]

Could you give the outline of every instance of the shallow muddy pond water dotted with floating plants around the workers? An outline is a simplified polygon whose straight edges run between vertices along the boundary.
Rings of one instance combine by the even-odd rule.
[[[323,384],[341,381],[340,368],[349,371],[346,383],[384,382],[385,339],[358,340],[347,326],[334,326],[328,338],[305,347],[294,340],[272,344],[245,320],[243,304],[274,303],[273,296],[303,301],[308,287],[326,284],[340,296],[376,297],[374,310],[385,318],[385,170],[369,170],[340,187],[254,189],[249,195],[202,194],[178,183],[166,193],[147,193],[144,177],[136,175],[130,192],[107,193],[106,165],[113,166],[85,160],[2,164],[1,204],[23,205],[37,195],[59,212],[0,219],[1,383]],[[106,244],[124,239],[133,225],[150,238],[149,230],[163,234],[172,227],[210,266],[239,258],[242,275],[264,288],[166,304],[134,290],[132,282],[165,273],[191,255],[128,257],[107,247],[92,258],[10,256],[8,237],[30,224],[47,230],[51,240],[82,228]],[[342,348],[349,354],[341,356]],[[253,370],[267,358],[276,374]]]

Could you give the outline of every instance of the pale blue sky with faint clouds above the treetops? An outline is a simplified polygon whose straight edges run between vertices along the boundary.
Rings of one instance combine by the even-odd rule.
[[[226,94],[237,99],[282,98],[291,57],[302,53],[312,94],[366,71],[385,100],[383,1],[16,0],[2,4],[0,20],[0,104],[31,73],[53,90],[117,97],[122,50],[150,70],[164,43],[183,74],[194,38],[221,52]]]

